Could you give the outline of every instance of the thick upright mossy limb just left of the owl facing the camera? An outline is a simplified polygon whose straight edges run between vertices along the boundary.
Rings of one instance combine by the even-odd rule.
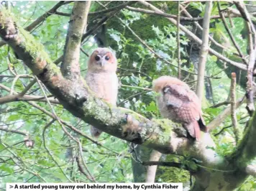
[[[81,39],[83,31],[86,31],[90,5],[91,1],[76,1],[70,17],[61,71],[65,78],[68,77],[71,80],[77,80],[80,77]]]

